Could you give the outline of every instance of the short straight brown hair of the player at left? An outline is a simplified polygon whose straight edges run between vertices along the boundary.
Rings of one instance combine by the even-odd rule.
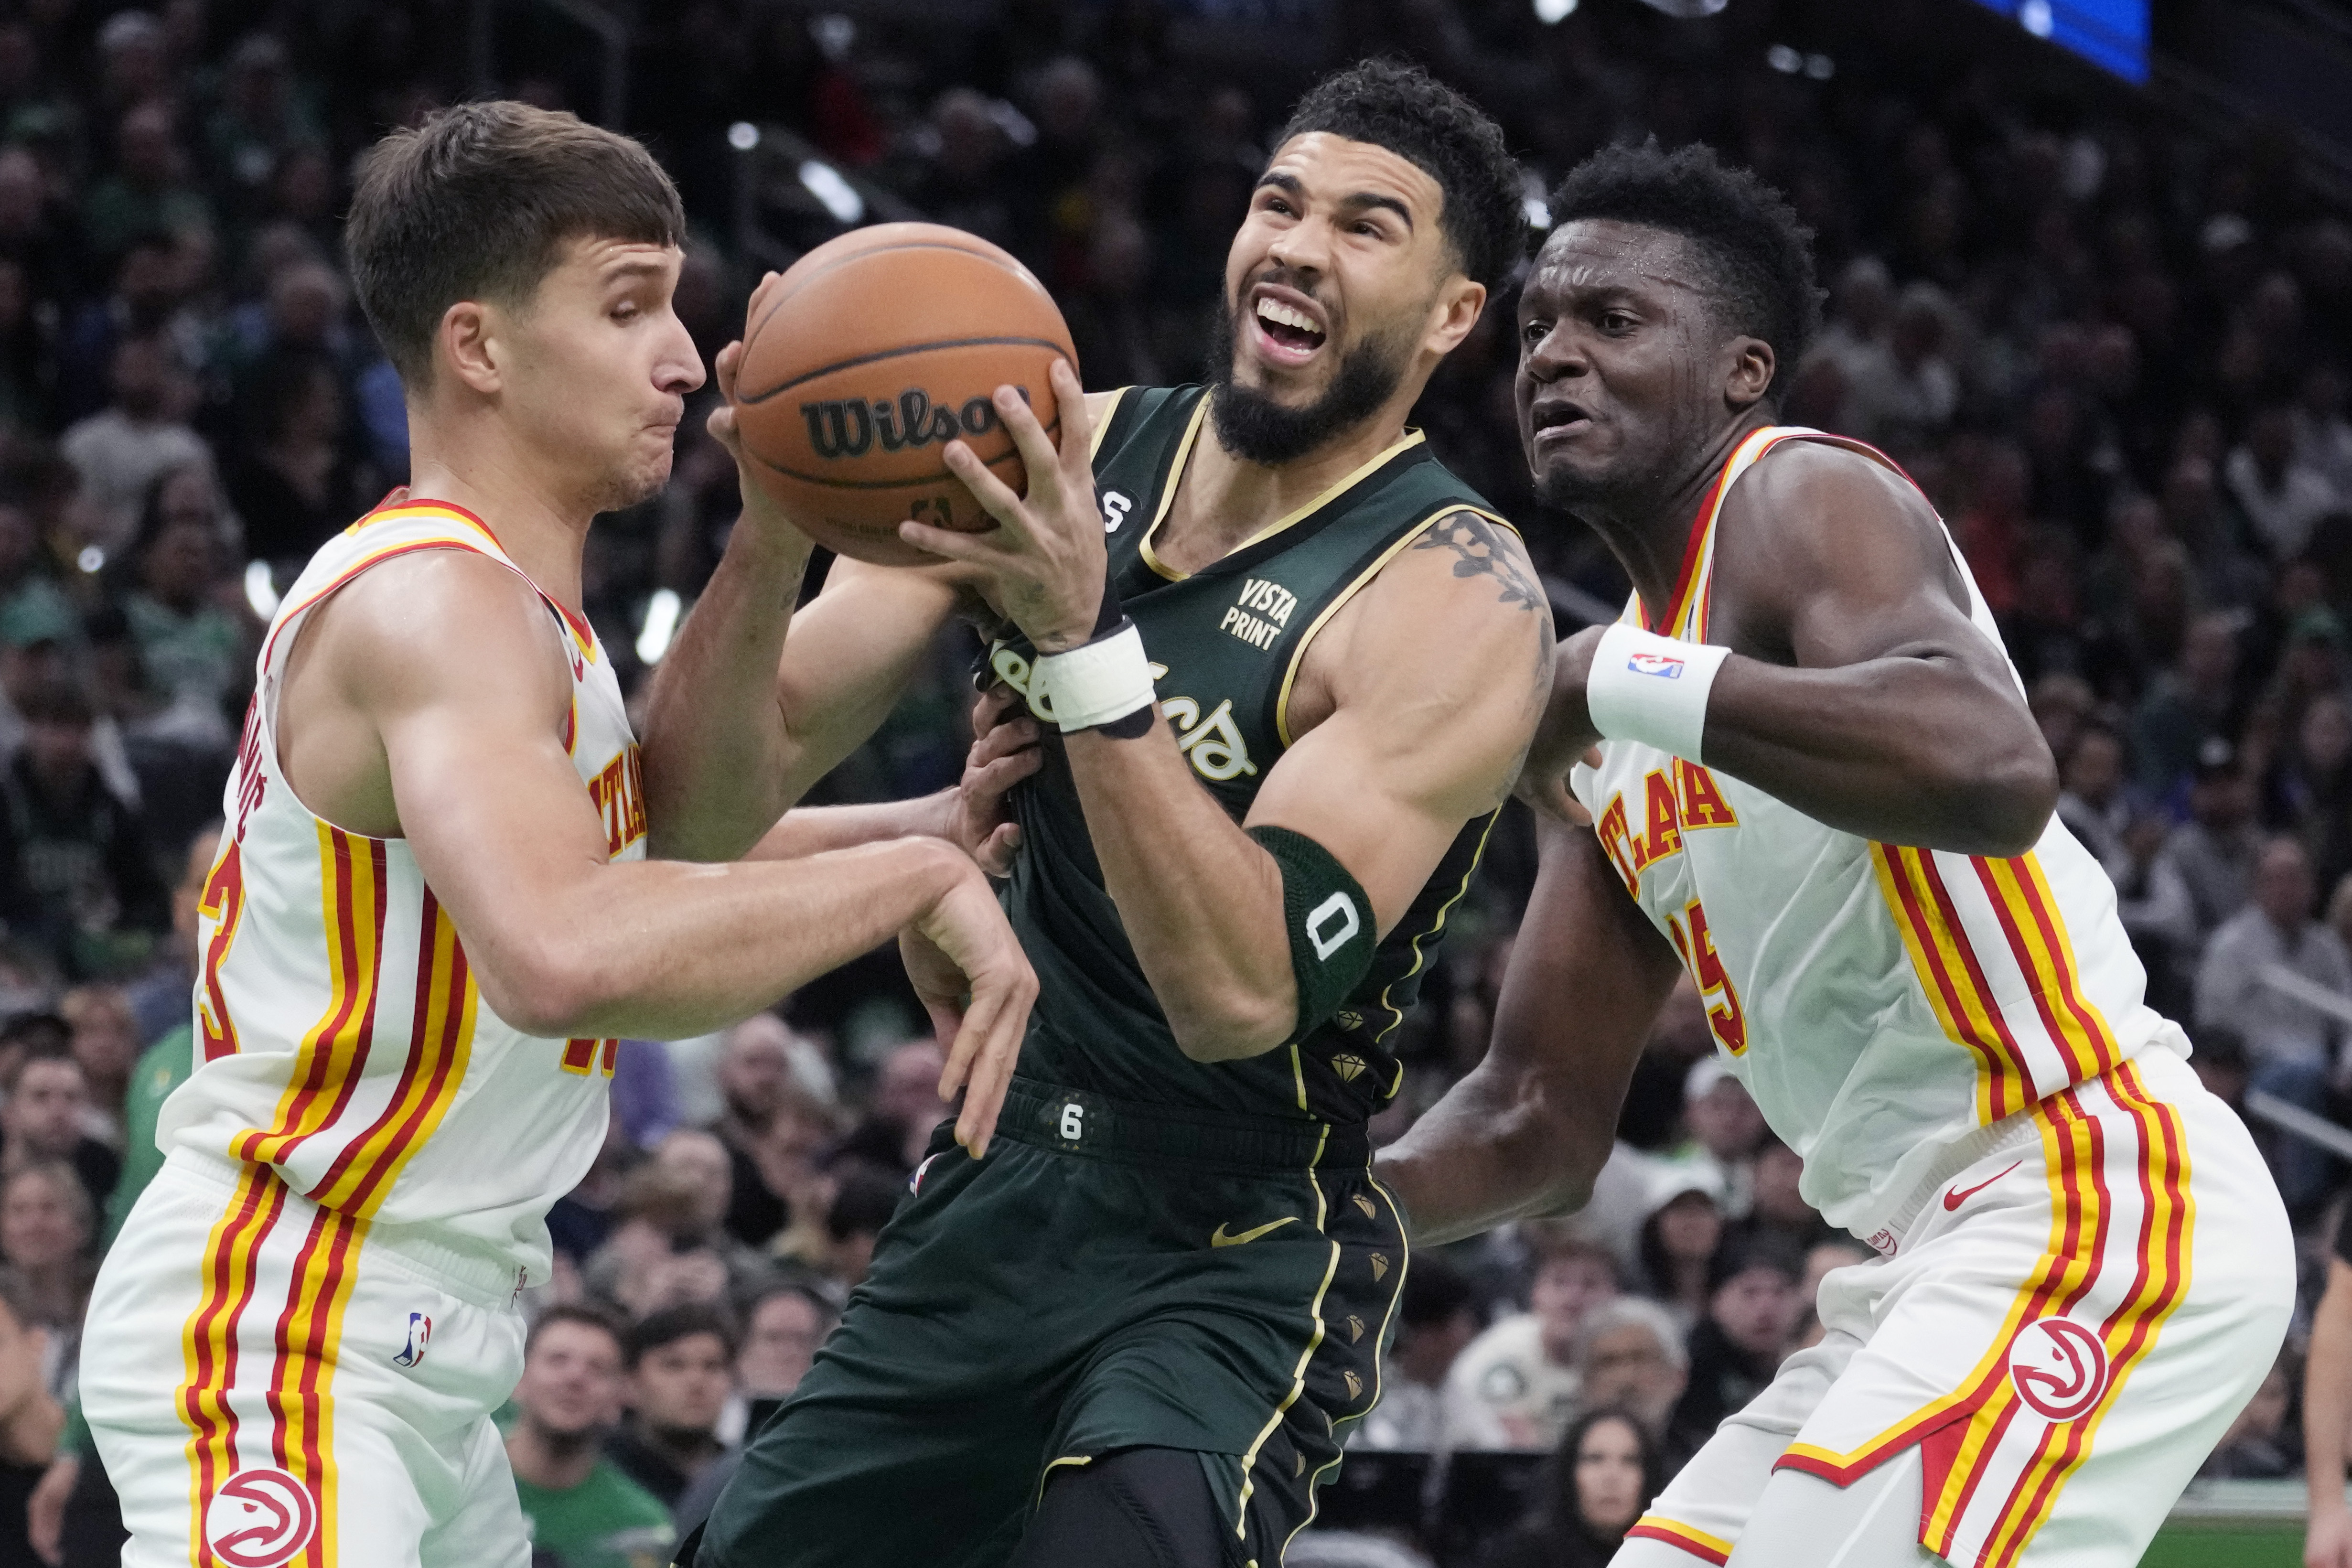
[[[628,136],[529,103],[459,103],[367,153],[343,247],[402,383],[433,378],[433,334],[461,299],[520,303],[567,240],[680,244],[677,186]]]

